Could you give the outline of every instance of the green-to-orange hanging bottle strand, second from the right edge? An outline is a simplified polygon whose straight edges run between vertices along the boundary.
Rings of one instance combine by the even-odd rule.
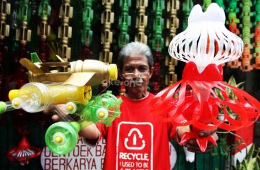
[[[250,21],[250,8],[252,6],[252,1],[243,0],[242,1],[242,39],[244,42],[244,51],[242,54],[242,66],[240,69],[242,71],[251,71],[253,69],[250,61],[252,60],[252,55],[250,49],[252,49],[251,45],[251,34],[250,29],[252,27],[252,23]]]

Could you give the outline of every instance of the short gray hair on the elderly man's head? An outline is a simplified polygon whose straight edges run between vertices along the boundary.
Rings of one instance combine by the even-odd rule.
[[[148,60],[148,65],[151,69],[153,67],[153,55],[150,47],[141,42],[130,42],[129,44],[122,47],[118,55],[118,67],[122,71],[122,64],[124,59],[133,55],[144,55]]]

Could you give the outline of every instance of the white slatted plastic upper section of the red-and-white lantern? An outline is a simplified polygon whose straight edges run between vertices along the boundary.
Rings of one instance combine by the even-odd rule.
[[[224,10],[217,3],[211,3],[206,12],[200,5],[195,5],[187,29],[170,42],[170,56],[183,62],[194,62],[199,73],[209,64],[237,60],[242,55],[244,43],[226,29],[225,20]]]

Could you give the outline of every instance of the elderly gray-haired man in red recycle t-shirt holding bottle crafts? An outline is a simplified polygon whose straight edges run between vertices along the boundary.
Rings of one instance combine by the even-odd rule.
[[[104,169],[170,169],[169,140],[177,140],[189,127],[174,127],[151,114],[148,104],[154,95],[147,90],[153,75],[151,49],[140,42],[125,45],[118,56],[118,68],[126,88],[120,96],[120,118],[109,127],[89,125],[81,130],[81,136],[90,143],[106,138]],[[208,136],[213,132],[200,134]],[[199,151],[194,141],[186,143],[186,147]]]

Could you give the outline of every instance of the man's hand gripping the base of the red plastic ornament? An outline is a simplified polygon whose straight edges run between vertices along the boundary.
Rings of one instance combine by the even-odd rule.
[[[178,129],[177,129],[178,138],[181,139],[181,136],[183,136],[183,134],[185,132],[190,132],[190,126],[178,127]],[[218,140],[218,135],[216,134],[216,130],[201,130],[198,132],[198,136],[200,136],[200,137],[207,137],[210,135],[213,136],[215,141]],[[198,146],[198,143],[196,141],[196,138],[193,138],[190,141],[187,141],[184,145],[185,145],[185,147],[187,147],[188,151],[197,152],[197,153],[201,152],[200,147]],[[208,141],[207,149],[205,152],[211,151],[212,148],[213,148],[213,144],[210,141]]]

